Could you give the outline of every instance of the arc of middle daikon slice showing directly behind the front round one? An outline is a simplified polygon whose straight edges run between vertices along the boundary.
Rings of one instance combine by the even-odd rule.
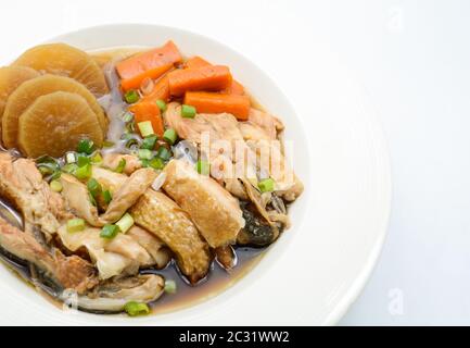
[[[102,133],[107,130],[107,119],[94,96],[80,83],[73,78],[42,75],[22,84],[13,91],[7,102],[3,115],[3,140],[9,148],[17,147],[18,119],[41,96],[55,91],[77,94],[82,97],[94,112]]]

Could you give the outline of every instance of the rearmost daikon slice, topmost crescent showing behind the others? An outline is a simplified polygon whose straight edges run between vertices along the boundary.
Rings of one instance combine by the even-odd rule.
[[[94,60],[86,52],[65,44],[36,46],[24,52],[13,65],[72,77],[96,96],[107,92],[104,74]]]

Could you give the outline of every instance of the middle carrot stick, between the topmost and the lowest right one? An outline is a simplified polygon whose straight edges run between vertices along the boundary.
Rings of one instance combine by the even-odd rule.
[[[230,70],[224,65],[179,69],[168,73],[169,92],[181,96],[188,90],[221,90],[230,86]]]

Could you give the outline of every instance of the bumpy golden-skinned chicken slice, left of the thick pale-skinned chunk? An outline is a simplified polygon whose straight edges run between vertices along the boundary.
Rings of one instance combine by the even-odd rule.
[[[172,199],[152,189],[130,210],[136,224],[162,239],[176,254],[181,272],[194,284],[208,272],[208,247],[198,229]]]

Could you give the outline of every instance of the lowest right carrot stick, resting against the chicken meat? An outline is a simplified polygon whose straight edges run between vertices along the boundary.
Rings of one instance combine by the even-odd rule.
[[[251,107],[247,96],[205,91],[186,92],[185,104],[193,105],[199,113],[231,113],[240,121],[247,120]]]

